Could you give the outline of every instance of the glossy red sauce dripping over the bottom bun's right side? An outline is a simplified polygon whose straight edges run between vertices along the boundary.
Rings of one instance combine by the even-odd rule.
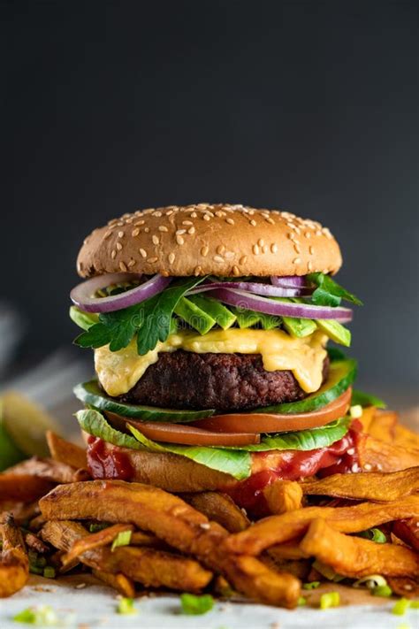
[[[355,420],[347,434],[328,448],[308,452],[286,450],[281,456],[278,468],[256,472],[250,478],[242,480],[234,487],[227,487],[224,491],[249,513],[259,517],[268,515],[263,489],[275,480],[298,480],[315,474],[323,477],[336,473],[359,472],[356,445],[361,431],[361,422]],[[257,452],[253,456],[265,457],[267,455],[266,452]]]

